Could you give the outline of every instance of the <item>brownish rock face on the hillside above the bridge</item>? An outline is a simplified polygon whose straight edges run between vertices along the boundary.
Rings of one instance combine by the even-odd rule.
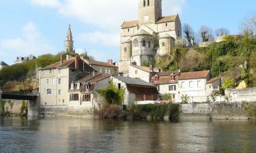
[[[4,91],[37,90],[39,88],[38,73],[23,81],[8,82],[3,86]]]

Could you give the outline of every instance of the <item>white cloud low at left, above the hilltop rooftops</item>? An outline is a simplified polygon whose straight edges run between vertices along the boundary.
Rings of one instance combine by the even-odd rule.
[[[23,35],[20,37],[0,39],[1,57],[40,55],[55,50],[40,34],[33,22],[28,22],[21,30]]]

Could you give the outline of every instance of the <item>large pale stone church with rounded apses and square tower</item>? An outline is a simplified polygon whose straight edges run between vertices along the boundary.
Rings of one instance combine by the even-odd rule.
[[[128,75],[131,63],[152,64],[156,56],[172,54],[181,36],[179,15],[162,16],[162,0],[139,0],[139,20],[121,26],[119,73]]]

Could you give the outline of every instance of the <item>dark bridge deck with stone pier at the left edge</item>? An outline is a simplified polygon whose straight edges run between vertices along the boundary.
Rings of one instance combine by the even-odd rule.
[[[38,116],[40,109],[40,98],[38,93],[25,93],[25,92],[3,92],[0,89],[0,101],[1,99],[12,100],[25,100],[28,101],[27,116]]]

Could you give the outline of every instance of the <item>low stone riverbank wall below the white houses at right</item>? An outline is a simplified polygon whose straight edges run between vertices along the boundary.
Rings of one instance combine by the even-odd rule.
[[[180,104],[181,119],[240,120],[248,119],[241,103]]]

